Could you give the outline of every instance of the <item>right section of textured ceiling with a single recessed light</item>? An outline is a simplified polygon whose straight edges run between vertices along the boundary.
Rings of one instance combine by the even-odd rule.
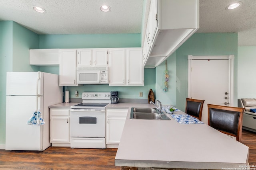
[[[234,10],[226,6],[240,1]],[[200,0],[200,33],[238,33],[239,46],[256,46],[256,0]]]

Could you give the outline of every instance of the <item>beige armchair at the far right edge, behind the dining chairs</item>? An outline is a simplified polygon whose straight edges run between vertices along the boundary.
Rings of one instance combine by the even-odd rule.
[[[241,98],[238,99],[238,107],[243,107],[243,129],[256,132],[256,113],[250,112],[250,109],[256,109],[256,99]]]

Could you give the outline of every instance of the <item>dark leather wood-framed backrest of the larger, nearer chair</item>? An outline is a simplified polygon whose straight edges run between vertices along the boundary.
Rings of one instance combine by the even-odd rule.
[[[208,104],[208,125],[241,142],[244,108]]]

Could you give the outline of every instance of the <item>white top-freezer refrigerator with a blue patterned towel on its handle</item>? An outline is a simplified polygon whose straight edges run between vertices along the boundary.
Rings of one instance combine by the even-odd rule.
[[[6,150],[45,150],[50,143],[51,105],[62,103],[59,75],[45,72],[7,72]],[[44,125],[28,125],[40,111]]]

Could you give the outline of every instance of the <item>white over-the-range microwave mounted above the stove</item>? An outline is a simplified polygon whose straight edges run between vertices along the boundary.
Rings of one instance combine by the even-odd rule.
[[[108,84],[108,67],[77,67],[77,84]]]

